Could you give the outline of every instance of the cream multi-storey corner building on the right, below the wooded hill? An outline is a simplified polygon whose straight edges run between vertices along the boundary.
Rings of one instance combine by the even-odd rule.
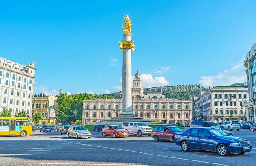
[[[203,120],[247,121],[248,114],[244,109],[244,103],[249,100],[249,95],[246,86],[215,86],[204,92],[201,98],[202,101],[198,104],[202,106]]]

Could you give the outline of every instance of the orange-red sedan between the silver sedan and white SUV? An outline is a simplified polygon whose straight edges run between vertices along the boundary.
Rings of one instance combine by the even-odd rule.
[[[106,126],[102,129],[102,136],[111,136],[113,138],[116,137],[128,137],[129,132],[122,128],[121,126],[117,125],[111,125],[111,126]]]

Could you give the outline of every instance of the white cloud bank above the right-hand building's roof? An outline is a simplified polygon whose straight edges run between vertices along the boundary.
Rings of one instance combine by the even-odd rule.
[[[199,77],[200,80],[198,83],[208,88],[209,86],[227,86],[233,83],[246,82],[247,75],[244,69],[245,67],[243,61],[239,60],[239,63],[234,65],[229,70],[224,70],[223,72],[219,72],[217,75],[213,76],[210,75]]]

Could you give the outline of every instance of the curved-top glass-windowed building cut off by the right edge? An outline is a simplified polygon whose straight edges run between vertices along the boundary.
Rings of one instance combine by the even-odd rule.
[[[248,112],[247,121],[256,122],[256,44],[253,44],[251,50],[246,54],[244,66],[249,89],[249,100],[244,105]]]

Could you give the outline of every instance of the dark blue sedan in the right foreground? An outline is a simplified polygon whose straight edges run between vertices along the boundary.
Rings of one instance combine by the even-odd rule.
[[[183,151],[189,151],[190,148],[201,149],[218,152],[221,156],[232,153],[244,154],[250,152],[253,147],[249,140],[229,136],[223,130],[213,126],[187,129],[175,135],[175,143],[181,146]]]

